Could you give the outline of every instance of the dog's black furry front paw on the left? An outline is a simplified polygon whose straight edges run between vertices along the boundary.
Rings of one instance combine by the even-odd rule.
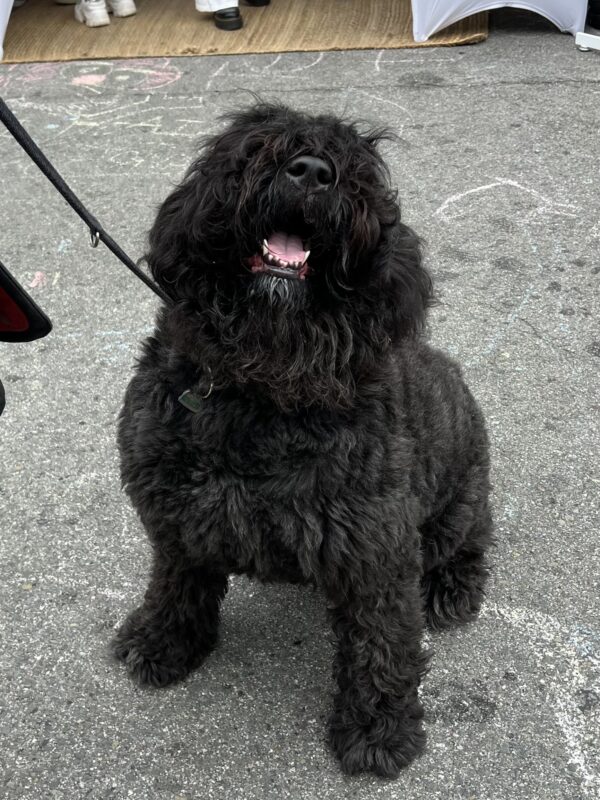
[[[190,652],[180,634],[163,629],[142,607],[125,620],[112,641],[112,650],[138,683],[168,686],[185,678],[202,661],[202,655]]]

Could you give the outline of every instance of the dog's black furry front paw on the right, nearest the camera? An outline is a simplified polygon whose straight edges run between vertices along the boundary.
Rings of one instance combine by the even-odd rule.
[[[380,778],[397,778],[425,747],[420,720],[404,722],[395,717],[377,717],[364,726],[344,722],[334,714],[329,739],[346,774],[374,772]]]

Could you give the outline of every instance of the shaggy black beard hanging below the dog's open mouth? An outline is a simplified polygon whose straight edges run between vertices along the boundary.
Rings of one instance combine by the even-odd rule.
[[[315,314],[301,282],[264,275],[245,296],[181,303],[165,321],[176,349],[209,367],[216,389],[246,386],[293,411],[350,404],[361,348],[345,311]]]

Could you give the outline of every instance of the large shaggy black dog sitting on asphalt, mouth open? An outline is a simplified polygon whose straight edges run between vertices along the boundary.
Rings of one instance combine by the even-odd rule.
[[[432,289],[376,145],[331,116],[229,118],[161,207],[163,308],[125,398],[123,482],[154,548],[115,652],[164,686],[215,646],[230,573],[318,585],[338,639],[346,772],[423,748],[424,622],[472,619],[488,445],[419,337]]]

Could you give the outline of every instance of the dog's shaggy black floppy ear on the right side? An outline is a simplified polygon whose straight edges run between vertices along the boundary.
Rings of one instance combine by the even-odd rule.
[[[372,271],[376,316],[392,342],[418,333],[433,302],[433,285],[423,266],[418,236],[398,218],[382,227]]]

